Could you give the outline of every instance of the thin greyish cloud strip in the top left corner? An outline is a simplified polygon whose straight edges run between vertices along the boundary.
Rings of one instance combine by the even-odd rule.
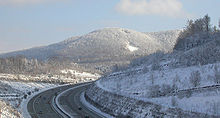
[[[55,2],[64,0],[0,0],[0,5],[20,6],[28,4],[40,4],[46,2]]]

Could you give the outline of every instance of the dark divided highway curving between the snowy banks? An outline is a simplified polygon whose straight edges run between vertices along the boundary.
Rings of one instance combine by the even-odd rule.
[[[101,118],[100,114],[87,108],[80,101],[80,94],[89,85],[90,83],[82,83],[44,91],[29,101],[28,112],[32,118]]]

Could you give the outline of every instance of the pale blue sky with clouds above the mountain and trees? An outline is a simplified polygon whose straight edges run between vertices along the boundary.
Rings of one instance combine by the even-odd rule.
[[[105,27],[181,29],[220,18],[220,0],[0,0],[0,53],[48,45]]]

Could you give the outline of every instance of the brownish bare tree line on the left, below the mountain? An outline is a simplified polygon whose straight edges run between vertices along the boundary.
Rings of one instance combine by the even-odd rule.
[[[28,59],[22,55],[0,58],[0,73],[48,74],[60,73],[61,69],[72,67],[71,61],[51,57],[47,61]]]

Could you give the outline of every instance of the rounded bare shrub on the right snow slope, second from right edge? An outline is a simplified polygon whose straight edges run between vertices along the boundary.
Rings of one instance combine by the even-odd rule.
[[[195,71],[191,73],[190,82],[193,85],[193,87],[198,87],[200,85],[201,76],[199,71]]]

